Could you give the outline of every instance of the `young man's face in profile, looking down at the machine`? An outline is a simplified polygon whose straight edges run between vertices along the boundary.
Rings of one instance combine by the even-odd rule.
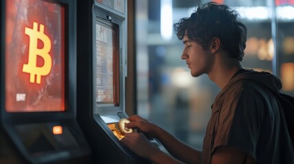
[[[182,39],[184,51],[181,58],[186,60],[188,68],[191,70],[193,77],[199,77],[201,74],[208,74],[213,64],[213,54],[210,49],[204,50],[197,42],[184,36]]]

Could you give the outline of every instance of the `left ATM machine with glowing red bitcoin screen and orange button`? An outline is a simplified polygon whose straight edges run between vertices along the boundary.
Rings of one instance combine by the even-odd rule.
[[[76,120],[76,1],[0,8],[0,163],[91,163]]]

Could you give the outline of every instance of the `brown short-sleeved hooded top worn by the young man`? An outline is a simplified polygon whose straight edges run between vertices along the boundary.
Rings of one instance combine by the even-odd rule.
[[[265,87],[245,80],[253,76],[252,79],[261,78],[265,86],[271,86],[267,82],[275,78],[267,79],[271,74],[256,75],[258,72],[252,75],[249,71],[245,76],[233,77],[215,98],[200,163],[210,163],[219,146],[239,148],[254,157],[256,163],[294,163],[291,139],[277,98]],[[279,89],[276,82],[272,87]]]

